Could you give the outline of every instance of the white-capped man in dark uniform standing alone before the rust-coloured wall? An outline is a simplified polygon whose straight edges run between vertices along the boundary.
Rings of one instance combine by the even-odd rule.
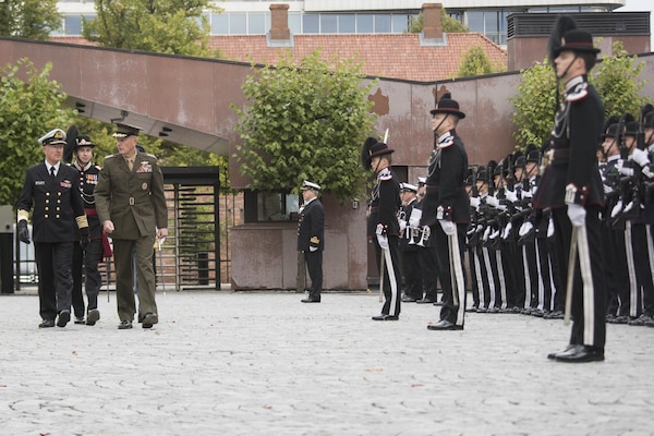
[[[302,303],[319,303],[323,292],[323,251],[325,250],[325,210],[318,199],[320,185],[304,181],[298,221],[298,251],[304,253],[304,262],[311,278],[308,296]]]

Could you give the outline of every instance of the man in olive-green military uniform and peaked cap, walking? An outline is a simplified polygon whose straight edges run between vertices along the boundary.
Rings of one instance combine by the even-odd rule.
[[[136,150],[141,128],[117,124],[118,154],[107,156],[95,190],[102,228],[113,240],[119,329],[132,328],[136,305],[132,249],[136,250],[138,315],[143,328],[159,322],[155,301],[153,245],[168,235],[164,175],[157,158]]]

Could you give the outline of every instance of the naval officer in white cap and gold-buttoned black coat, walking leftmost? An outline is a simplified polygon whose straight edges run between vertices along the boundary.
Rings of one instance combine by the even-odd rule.
[[[29,167],[17,203],[19,239],[29,243],[27,220],[34,204],[33,231],[38,268],[39,327],[65,327],[71,319],[71,259],[75,228],[88,242],[88,223],[80,196],[77,170],[61,164],[65,132],[55,129],[39,140],[44,162]],[[75,225],[76,222],[76,225]]]

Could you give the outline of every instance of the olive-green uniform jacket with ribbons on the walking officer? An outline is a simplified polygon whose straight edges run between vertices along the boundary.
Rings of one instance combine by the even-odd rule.
[[[168,228],[164,175],[153,155],[136,153],[132,172],[121,155],[107,156],[95,199],[100,222],[113,222],[113,239],[135,240]]]

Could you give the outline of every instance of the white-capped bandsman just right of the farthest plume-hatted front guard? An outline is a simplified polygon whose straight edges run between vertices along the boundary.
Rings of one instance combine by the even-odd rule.
[[[417,258],[417,242],[414,229],[409,226],[413,207],[417,203],[417,186],[411,183],[400,183],[402,207],[400,209],[400,253],[402,255],[402,270],[404,271],[404,295],[402,302],[414,303],[423,296],[423,283]]]

